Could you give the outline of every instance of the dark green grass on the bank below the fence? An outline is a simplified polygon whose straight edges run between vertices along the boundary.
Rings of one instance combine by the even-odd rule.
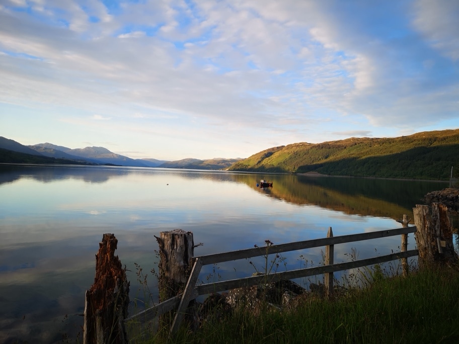
[[[376,276],[378,277],[378,276]],[[371,278],[334,300],[258,316],[244,310],[142,343],[450,343],[459,342],[459,267]]]

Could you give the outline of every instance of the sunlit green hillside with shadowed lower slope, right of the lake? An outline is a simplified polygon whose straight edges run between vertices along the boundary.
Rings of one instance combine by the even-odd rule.
[[[459,129],[396,138],[348,138],[273,147],[229,170],[331,176],[447,180],[459,167]]]

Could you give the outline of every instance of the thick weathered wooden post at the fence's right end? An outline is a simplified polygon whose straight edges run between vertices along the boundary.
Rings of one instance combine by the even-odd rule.
[[[457,254],[452,243],[452,228],[447,207],[441,203],[432,203],[430,214],[428,206],[416,205],[413,213],[419,267],[456,262]]]

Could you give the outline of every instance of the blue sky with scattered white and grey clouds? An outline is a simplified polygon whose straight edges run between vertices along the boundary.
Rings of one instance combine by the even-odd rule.
[[[132,158],[459,128],[459,1],[0,0],[0,136]]]

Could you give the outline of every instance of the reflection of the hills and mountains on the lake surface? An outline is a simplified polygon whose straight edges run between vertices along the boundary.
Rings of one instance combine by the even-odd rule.
[[[228,173],[182,169],[151,169],[110,166],[18,166],[0,168],[0,185],[30,178],[49,183],[58,180],[81,180],[85,183],[107,183],[128,175],[180,177],[184,180],[244,183],[257,190],[262,174]],[[365,178],[308,177],[270,175],[274,188],[259,189],[270,197],[296,205],[317,205],[335,211],[363,216],[397,219],[411,213],[422,197],[430,191],[447,187],[446,182],[401,181]]]

